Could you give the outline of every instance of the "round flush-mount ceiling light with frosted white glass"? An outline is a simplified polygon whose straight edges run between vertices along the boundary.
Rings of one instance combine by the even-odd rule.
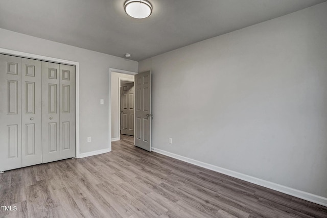
[[[124,3],[126,14],[136,19],[143,19],[152,13],[152,5],[146,0],[127,0]]]

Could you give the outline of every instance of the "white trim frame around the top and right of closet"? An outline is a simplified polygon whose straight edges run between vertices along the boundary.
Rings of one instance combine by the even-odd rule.
[[[42,61],[49,61],[49,62],[55,62],[59,64],[68,64],[68,65],[75,65],[76,67],[76,81],[75,81],[75,132],[76,132],[76,158],[80,158],[80,120],[79,120],[79,74],[80,74],[80,63],[75,62],[75,61],[68,61],[68,60],[63,60],[63,59],[58,59],[58,58],[52,58],[52,57],[47,57],[47,56],[42,56],[42,55],[35,55],[31,53],[26,53],[26,52],[19,52],[19,51],[14,51],[10,49],[3,49],[0,47],[0,53],[4,55],[14,55],[14,56],[19,56],[22,58],[32,58],[32,59],[37,59],[37,60],[42,60]],[[111,136],[110,136],[111,139]],[[111,148],[111,141],[110,141],[110,148]],[[111,151],[111,149],[110,149]]]

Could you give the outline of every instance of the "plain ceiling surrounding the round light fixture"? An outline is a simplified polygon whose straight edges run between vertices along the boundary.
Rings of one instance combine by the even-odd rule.
[[[0,28],[140,61],[326,0],[149,1],[139,20],[125,0],[1,0]]]

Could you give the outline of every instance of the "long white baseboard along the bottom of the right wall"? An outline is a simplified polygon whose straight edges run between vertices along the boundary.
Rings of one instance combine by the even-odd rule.
[[[222,174],[225,174],[225,175],[228,175],[228,176],[231,176],[231,177],[235,177],[235,178],[247,181],[247,182],[251,182],[251,183],[266,187],[266,188],[270,188],[270,189],[273,189],[273,190],[276,190],[276,191],[280,191],[280,192],[286,193],[287,195],[290,195],[290,196],[294,196],[294,197],[297,197],[297,198],[300,198],[300,199],[303,199],[303,200],[307,200],[307,201],[310,201],[310,202],[313,202],[313,203],[316,203],[316,204],[327,206],[327,198],[324,198],[322,196],[317,196],[317,195],[314,195],[312,193],[297,190],[297,189],[290,188],[290,187],[287,187],[287,186],[284,186],[284,185],[279,185],[279,184],[276,184],[276,183],[273,183],[273,182],[269,182],[269,181],[266,181],[266,180],[263,180],[263,179],[259,179],[259,178],[255,178],[255,177],[248,176],[248,175],[245,175],[245,174],[241,174],[241,173],[238,173],[238,172],[235,172],[235,171],[230,171],[229,169],[225,169],[225,168],[222,168],[222,167],[219,167],[219,166],[204,163],[204,162],[194,160],[194,159],[191,159],[191,158],[188,158],[188,157],[183,157],[183,156],[180,156],[180,155],[177,155],[177,154],[174,154],[174,153],[170,153],[170,152],[167,152],[167,151],[164,151],[164,150],[152,148],[152,151],[156,152],[156,153],[159,153],[159,154],[162,154],[162,155],[165,155],[165,156],[168,156],[168,157],[175,158],[177,160],[181,160],[181,161],[184,161],[184,162],[187,162],[187,163],[191,163],[191,164],[194,164],[194,165],[197,165],[197,166],[201,166],[201,167],[206,168],[206,169],[211,169],[212,171],[222,173]]]

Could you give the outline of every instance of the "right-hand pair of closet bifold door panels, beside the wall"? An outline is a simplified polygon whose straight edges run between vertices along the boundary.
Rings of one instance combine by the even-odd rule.
[[[75,157],[75,66],[42,63],[42,162]]]

